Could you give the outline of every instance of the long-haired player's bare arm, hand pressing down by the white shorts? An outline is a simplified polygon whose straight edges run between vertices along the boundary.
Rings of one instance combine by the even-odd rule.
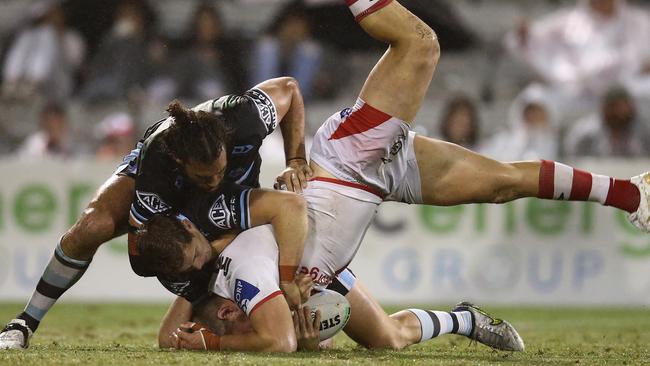
[[[298,81],[292,77],[266,80],[255,86],[266,93],[280,120],[287,168],[276,178],[278,185],[286,184],[292,192],[307,186],[312,171],[305,153],[305,104]]]

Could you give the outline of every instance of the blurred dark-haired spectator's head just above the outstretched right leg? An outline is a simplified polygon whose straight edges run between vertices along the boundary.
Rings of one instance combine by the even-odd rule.
[[[440,121],[440,138],[456,145],[476,149],[479,145],[479,116],[469,97],[458,95],[447,102]]]

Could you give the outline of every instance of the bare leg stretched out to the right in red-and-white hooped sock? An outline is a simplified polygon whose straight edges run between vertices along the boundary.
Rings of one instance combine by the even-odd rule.
[[[503,163],[447,142],[416,136],[423,203],[503,203],[523,197],[595,201],[630,213],[648,230],[648,183],[642,177],[615,179],[553,161]]]

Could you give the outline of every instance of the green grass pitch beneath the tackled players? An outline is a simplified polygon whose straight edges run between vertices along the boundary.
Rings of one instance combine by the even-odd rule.
[[[442,308],[442,307],[436,307]],[[0,320],[21,306],[0,304]],[[526,352],[497,352],[443,336],[404,351],[367,351],[345,335],[336,350],[270,355],[173,352],[156,348],[163,305],[61,304],[41,324],[28,351],[0,351],[0,365],[488,365],[650,363],[650,310],[486,307],[510,320]],[[390,309],[389,309],[390,310]]]

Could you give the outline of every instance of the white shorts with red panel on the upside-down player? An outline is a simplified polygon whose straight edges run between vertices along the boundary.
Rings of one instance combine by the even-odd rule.
[[[414,138],[407,123],[358,99],[353,108],[335,113],[318,129],[310,157],[350,186],[365,187],[377,203],[419,204]]]

